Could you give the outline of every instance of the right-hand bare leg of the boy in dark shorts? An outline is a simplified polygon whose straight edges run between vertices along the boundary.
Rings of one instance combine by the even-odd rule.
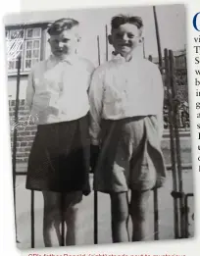
[[[82,191],[70,192],[65,195],[65,221],[67,224],[66,245],[79,244],[79,206]]]

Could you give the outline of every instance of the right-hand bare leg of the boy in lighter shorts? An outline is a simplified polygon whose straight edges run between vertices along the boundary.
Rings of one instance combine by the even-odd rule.
[[[141,241],[148,236],[148,205],[151,190],[131,191],[129,213],[132,219],[132,241]]]

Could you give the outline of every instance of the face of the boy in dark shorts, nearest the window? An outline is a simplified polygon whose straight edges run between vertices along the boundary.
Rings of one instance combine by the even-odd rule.
[[[78,42],[76,27],[69,30],[63,30],[60,34],[51,35],[49,44],[51,52],[57,57],[75,53]]]

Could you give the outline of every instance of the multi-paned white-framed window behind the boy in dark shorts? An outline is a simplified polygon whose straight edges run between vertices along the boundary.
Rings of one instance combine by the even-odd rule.
[[[18,70],[18,56],[21,54],[21,71],[27,72],[41,57],[41,28],[6,30],[9,74]]]

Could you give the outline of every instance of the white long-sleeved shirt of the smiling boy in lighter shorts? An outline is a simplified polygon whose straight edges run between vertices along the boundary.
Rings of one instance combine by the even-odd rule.
[[[125,62],[121,55],[93,73],[90,88],[91,143],[99,144],[100,123],[128,117],[155,115],[163,133],[164,86],[157,65],[141,57]]]

